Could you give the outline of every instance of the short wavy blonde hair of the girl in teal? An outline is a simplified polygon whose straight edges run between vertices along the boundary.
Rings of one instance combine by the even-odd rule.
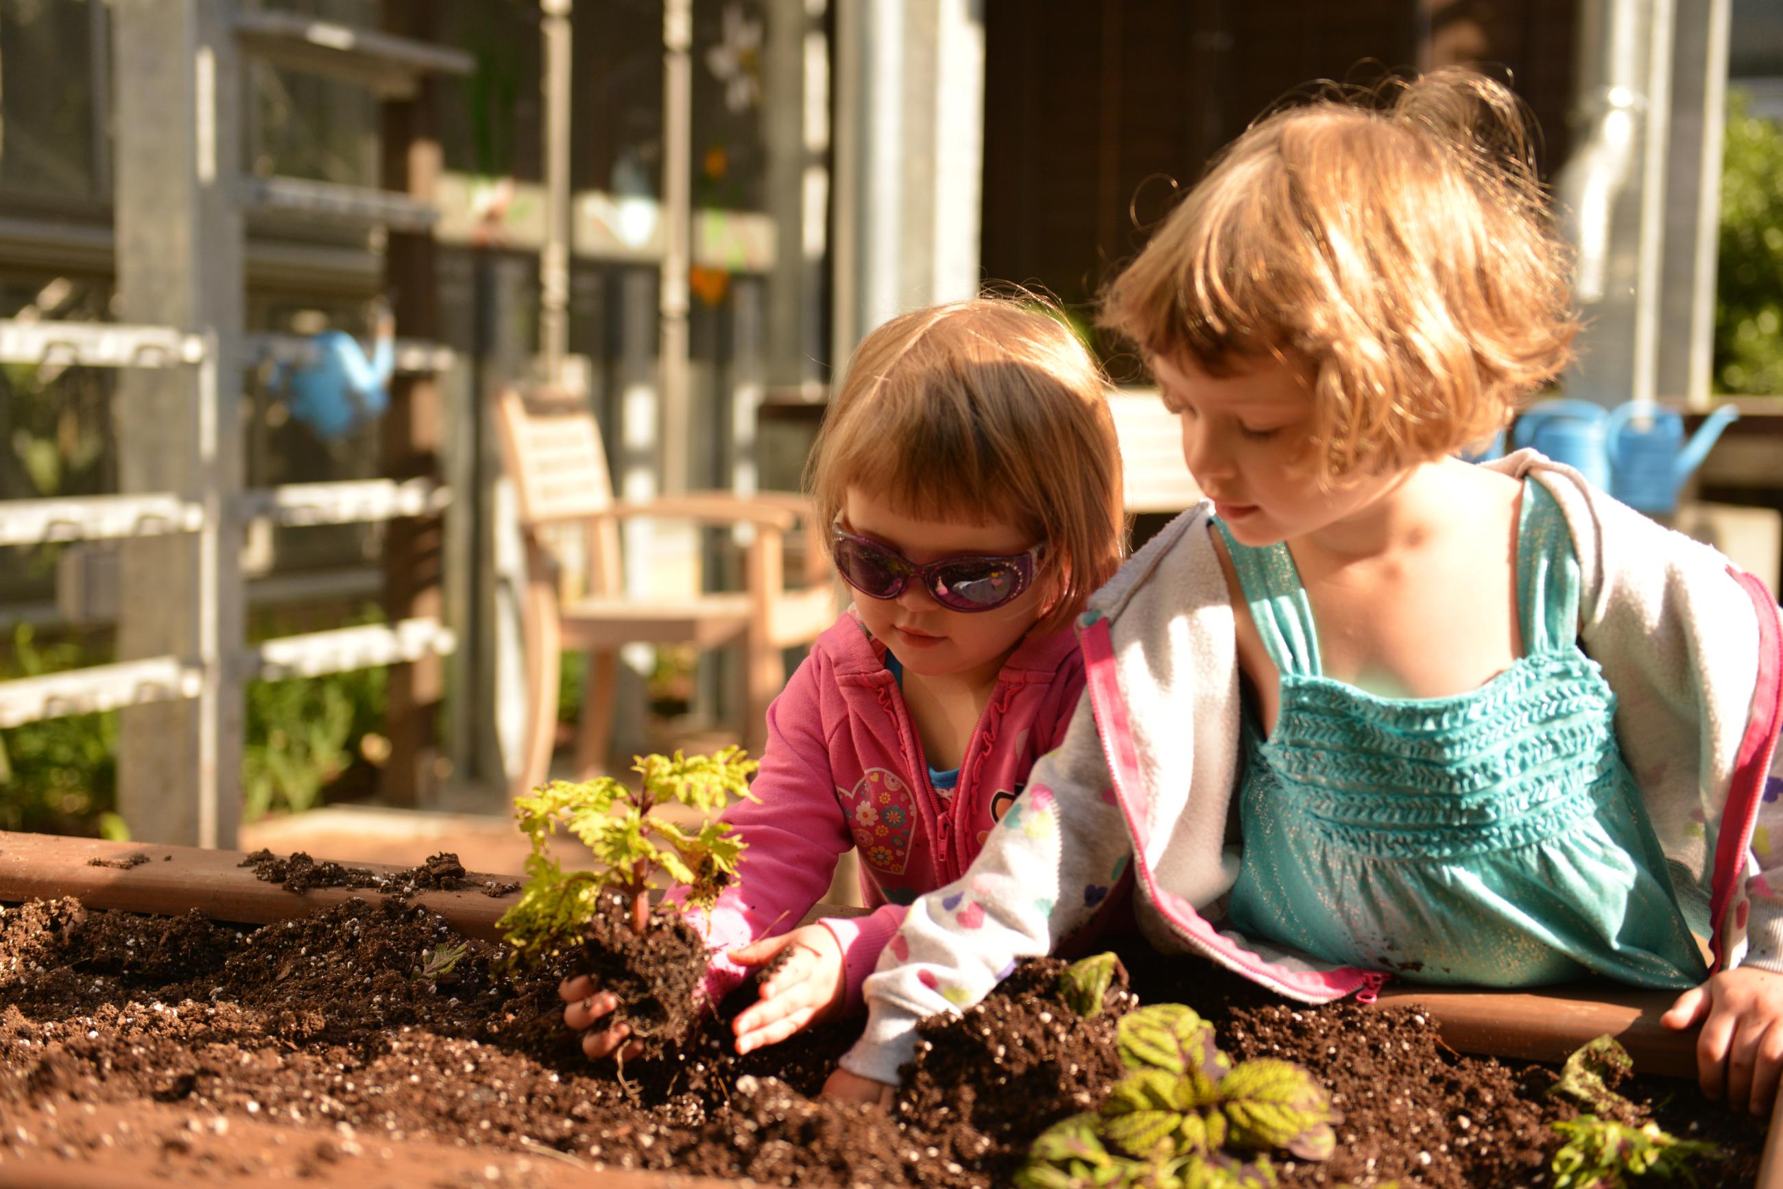
[[[1216,376],[1300,365],[1321,481],[1476,442],[1578,332],[1532,135],[1510,89],[1462,68],[1264,114],[1113,282],[1104,323]]]

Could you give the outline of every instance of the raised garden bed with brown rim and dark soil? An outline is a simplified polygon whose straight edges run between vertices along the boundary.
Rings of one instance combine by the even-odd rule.
[[[735,1059],[715,1021],[622,1086],[558,1025],[560,972],[487,973],[512,898],[485,895],[485,877],[408,890],[414,873],[371,868],[403,895],[296,895],[241,861],[0,834],[0,1184],[587,1185],[601,1169],[620,1189],[1002,1185],[1039,1130],[1118,1075],[1118,1011],[1079,1018],[1052,989],[1057,966],[1032,963],[931,1021],[890,1116],[811,1100],[847,1027]],[[1542,1096],[1553,1073],[1526,1059],[1603,1032],[1647,1075],[1624,1093],[1728,1152],[1703,1185],[1783,1184],[1758,1169],[1763,1128],[1699,1100],[1692,1039],[1656,1023],[1665,995],[1389,988],[1376,1005],[1309,1011],[1205,966],[1127,963],[1141,1000],[1193,1004],[1234,1057],[1291,1057],[1332,1091],[1337,1152],[1278,1166],[1284,1185],[1549,1184],[1548,1123],[1573,1109]],[[1514,1059],[1462,1055],[1476,1052]]]

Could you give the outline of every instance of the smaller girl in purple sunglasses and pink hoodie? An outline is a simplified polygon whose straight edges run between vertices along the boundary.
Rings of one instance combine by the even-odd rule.
[[[957,879],[1064,736],[1072,620],[1120,563],[1122,469],[1102,374],[1061,323],[979,299],[897,317],[856,349],[808,485],[854,606],[768,708],[756,802],[724,818],[738,882],[708,914],[706,998],[792,950],[736,1050],[859,1005],[904,906]],[[799,927],[859,854],[863,918]],[[571,979],[563,1020],[617,1002]],[[588,1030],[592,1057],[626,1027]]]

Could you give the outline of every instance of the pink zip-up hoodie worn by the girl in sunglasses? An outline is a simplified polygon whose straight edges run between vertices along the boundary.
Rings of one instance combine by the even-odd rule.
[[[829,891],[836,859],[861,852],[861,893],[874,911],[826,918],[847,961],[847,1005],[899,925],[904,906],[965,873],[990,829],[1059,745],[1084,690],[1075,633],[1029,636],[997,686],[943,797],[884,665],[886,647],[845,611],[768,706],[756,802],[724,813],[742,836],[738,882],[688,923],[713,947],[706,998],[717,1004],[747,972],[726,950],[792,931]]]

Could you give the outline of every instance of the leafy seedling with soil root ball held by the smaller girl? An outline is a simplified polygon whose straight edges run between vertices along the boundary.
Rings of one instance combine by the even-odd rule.
[[[531,840],[519,902],[499,922],[514,959],[537,966],[581,950],[579,968],[619,998],[612,1023],[631,1025],[645,1054],[678,1041],[695,1018],[694,996],[706,952],[679,911],[651,911],[661,881],[686,888],[686,902],[711,907],[736,877],[744,843],[717,813],[733,797],[751,797],[754,759],[740,747],[715,756],[642,756],[633,790],[622,781],[551,781],[515,800],[519,827]],[[654,811],[681,804],[701,815],[697,829]],[[592,872],[567,872],[551,856],[558,829],[579,838],[599,859]]]

